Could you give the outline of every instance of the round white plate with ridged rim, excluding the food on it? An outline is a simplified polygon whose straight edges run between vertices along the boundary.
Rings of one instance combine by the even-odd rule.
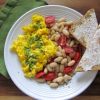
[[[12,42],[19,34],[22,34],[22,26],[31,21],[34,13],[40,13],[44,16],[53,15],[57,18],[66,16],[68,20],[77,20],[82,15],[68,7],[59,5],[42,6],[32,9],[21,16],[10,29],[4,48],[4,58],[8,73],[15,85],[25,94],[42,100],[62,100],[71,99],[83,92],[94,80],[97,72],[80,72],[75,74],[71,83],[61,86],[57,89],[51,89],[46,84],[39,84],[34,80],[24,77],[21,65],[15,53],[10,51]]]

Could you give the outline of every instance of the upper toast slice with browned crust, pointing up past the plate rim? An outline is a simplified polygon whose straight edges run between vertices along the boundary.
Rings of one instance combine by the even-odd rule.
[[[87,13],[76,21],[71,27],[71,34],[83,46],[88,47],[91,38],[97,30],[98,22],[94,9],[90,9]]]

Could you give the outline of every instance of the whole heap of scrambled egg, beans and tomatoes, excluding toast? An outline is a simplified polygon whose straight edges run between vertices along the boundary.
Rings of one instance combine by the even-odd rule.
[[[72,21],[35,14],[13,42],[11,51],[18,55],[25,77],[57,88],[74,74],[84,48],[70,34]]]

